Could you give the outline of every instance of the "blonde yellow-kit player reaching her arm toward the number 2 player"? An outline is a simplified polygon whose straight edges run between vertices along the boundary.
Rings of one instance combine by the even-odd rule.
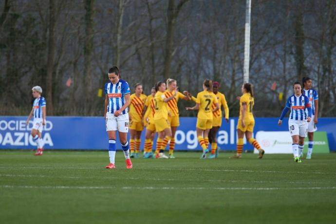
[[[180,93],[176,92],[177,89],[177,82],[175,79],[168,78],[167,79],[167,90],[165,92],[165,96],[168,98],[169,96],[172,96],[174,93],[176,93],[176,96],[167,103],[168,105],[168,111],[170,116],[168,116],[168,122],[170,124],[171,129],[171,139],[169,143],[169,158],[174,159],[174,148],[175,148],[175,133],[177,130],[177,127],[180,126],[180,115],[179,115],[179,109],[177,107],[177,102],[179,99],[184,99],[189,101],[190,97]],[[187,91],[184,91],[184,93]]]

